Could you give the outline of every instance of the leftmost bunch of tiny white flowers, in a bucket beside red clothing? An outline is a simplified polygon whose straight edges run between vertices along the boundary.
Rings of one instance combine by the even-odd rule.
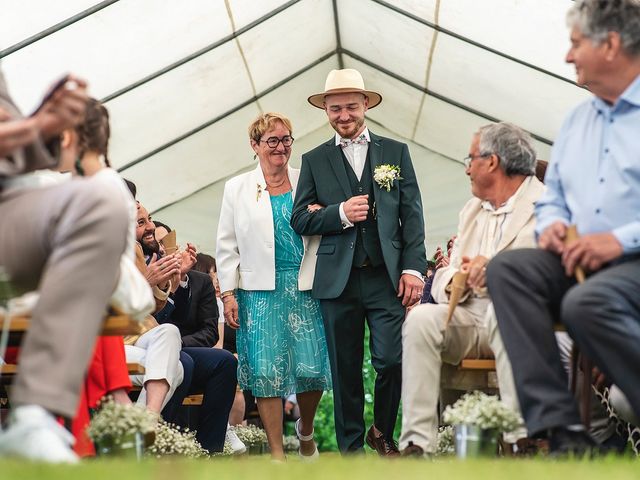
[[[155,430],[156,422],[157,416],[146,409],[116,403],[113,398],[107,397],[91,419],[87,434],[94,442],[109,441],[117,445],[136,433],[150,434]]]

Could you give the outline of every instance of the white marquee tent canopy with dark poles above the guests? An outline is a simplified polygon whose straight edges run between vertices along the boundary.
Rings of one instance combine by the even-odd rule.
[[[294,125],[292,164],[329,138],[306,98],[333,68],[359,69],[383,103],[371,130],[407,142],[428,250],[455,232],[469,198],[473,132],[516,123],[539,158],[576,86],[571,0],[9,0],[0,63],[24,111],[71,71],[112,116],[110,157],[155,218],[210,253],[224,182],[253,168],[246,127],[260,111]]]

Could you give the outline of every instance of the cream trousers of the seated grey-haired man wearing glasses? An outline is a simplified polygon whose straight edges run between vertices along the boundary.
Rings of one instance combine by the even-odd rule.
[[[411,310],[402,331],[402,434],[400,449],[411,441],[435,453],[438,397],[443,362],[465,358],[495,358],[502,401],[520,412],[511,364],[498,332],[488,298],[469,298],[456,307],[445,330],[448,305],[419,305]],[[515,441],[526,431],[505,439]]]

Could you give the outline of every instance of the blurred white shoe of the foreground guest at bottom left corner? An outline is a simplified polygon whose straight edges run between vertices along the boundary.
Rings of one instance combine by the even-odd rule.
[[[21,457],[47,463],[77,463],[73,435],[39,405],[16,407],[9,427],[0,433],[0,457]]]

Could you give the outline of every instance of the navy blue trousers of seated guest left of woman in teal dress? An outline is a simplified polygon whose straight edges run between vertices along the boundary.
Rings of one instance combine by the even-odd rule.
[[[221,452],[236,392],[238,361],[226,350],[184,347],[180,352],[184,380],[167,403],[162,416],[184,426],[179,419],[182,401],[188,395],[204,393],[196,438],[210,452]]]

